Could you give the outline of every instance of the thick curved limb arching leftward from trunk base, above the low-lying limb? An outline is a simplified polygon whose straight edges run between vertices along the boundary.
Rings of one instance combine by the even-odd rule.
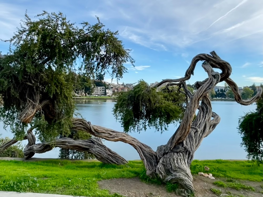
[[[113,129],[92,125],[81,118],[75,118],[73,120],[73,128],[81,131],[88,132],[95,137],[100,137],[108,141],[124,142],[133,146],[139,153],[141,160],[143,161],[146,169],[146,174],[151,177],[155,177],[155,170],[157,166],[156,152],[146,144],[141,143],[138,139],[131,137],[127,133],[118,132]]]

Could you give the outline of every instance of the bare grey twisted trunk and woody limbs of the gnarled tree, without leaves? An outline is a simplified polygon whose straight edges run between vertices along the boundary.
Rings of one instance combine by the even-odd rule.
[[[237,85],[230,79],[232,72],[230,64],[222,60],[214,51],[210,54],[211,55],[196,55],[191,61],[189,68],[186,70],[185,77],[180,79],[165,79],[156,85],[156,87],[164,83],[168,83],[167,86],[177,85],[179,91],[183,88],[183,93],[186,97],[190,98],[185,115],[178,129],[165,145],[161,145],[157,148],[156,152],[127,133],[92,125],[90,122],[80,118],[75,118],[73,120],[73,129],[85,131],[95,137],[109,141],[121,141],[130,144],[139,153],[148,176],[153,178],[159,176],[164,182],[178,183],[181,186],[180,193],[183,195],[187,196],[193,193],[194,186],[190,165],[194,158],[194,153],[203,139],[207,137],[220,122],[220,117],[212,111],[211,102],[208,96],[209,92],[214,89],[218,82],[225,81],[233,90],[235,100],[241,105],[250,105],[262,94],[262,89],[258,87],[257,94],[253,98],[242,100]],[[194,69],[198,61],[204,61],[202,67],[207,72],[208,78],[203,81],[197,81],[195,83],[197,91],[192,94],[187,89],[185,81],[190,79],[191,75],[194,74]],[[220,69],[222,72],[219,74],[215,72],[213,68]],[[35,100],[37,100],[37,98],[38,96],[36,96]],[[28,111],[30,111],[30,113],[28,113],[28,115],[26,113],[27,110],[21,113],[21,121],[26,123],[31,121],[33,117],[32,114],[36,113],[36,111],[40,110],[41,106],[44,105],[36,105],[35,102],[33,103],[31,103],[31,107],[29,106],[30,110],[28,109]],[[193,121],[196,110],[198,110],[198,114]],[[120,155],[114,153],[96,139],[75,141],[70,138],[61,138],[52,142],[35,144],[32,130],[27,132],[26,138],[29,141],[24,150],[26,158],[32,157],[34,153],[50,151],[53,147],[61,147],[88,151],[93,153],[98,160],[104,163],[127,163]],[[7,147],[14,142],[15,140],[3,146]],[[0,147],[0,151],[2,147]]]

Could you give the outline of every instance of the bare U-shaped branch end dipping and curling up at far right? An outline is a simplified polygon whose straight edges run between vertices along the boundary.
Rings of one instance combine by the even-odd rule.
[[[260,96],[262,94],[262,88],[261,87],[257,87],[257,93],[256,93],[255,96],[253,96],[250,99],[243,100],[241,98],[241,95],[239,93],[239,90],[238,90],[238,87],[237,87],[236,83],[230,78],[226,79],[225,82],[231,87],[231,89],[232,89],[232,91],[233,91],[233,93],[235,95],[236,102],[238,102],[241,105],[250,105],[251,103],[254,103],[255,101],[257,101],[257,99],[260,98]]]

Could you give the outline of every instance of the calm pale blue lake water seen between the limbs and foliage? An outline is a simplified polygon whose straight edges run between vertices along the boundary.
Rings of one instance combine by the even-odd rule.
[[[123,131],[120,123],[116,122],[112,114],[113,106],[113,100],[82,100],[78,101],[77,108],[83,118],[90,121],[93,125]],[[243,147],[240,147],[241,137],[236,127],[238,126],[239,117],[242,116],[244,112],[254,110],[256,105],[241,106],[232,101],[212,101],[212,106],[213,111],[220,115],[221,122],[216,129],[203,140],[201,146],[195,153],[195,159],[246,159],[246,152]],[[146,132],[133,132],[130,133],[130,135],[156,150],[159,145],[166,144],[176,128],[176,126],[170,125],[169,130],[162,134],[149,128]],[[13,137],[11,132],[6,132],[3,129],[1,122],[0,133],[3,134],[3,137]],[[24,141],[24,144],[26,144],[26,141]],[[138,153],[129,144],[109,141],[105,141],[104,144],[127,160],[140,159]],[[57,158],[58,153],[59,148],[55,148],[43,154],[35,154],[34,157]]]

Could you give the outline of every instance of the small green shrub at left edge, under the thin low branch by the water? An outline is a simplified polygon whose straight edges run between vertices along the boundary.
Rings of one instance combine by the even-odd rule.
[[[10,141],[11,139],[6,137],[6,138],[0,138],[0,147]],[[0,157],[24,157],[23,153],[24,147],[22,146],[22,142],[17,142],[16,144],[13,144],[12,146],[8,147],[4,151],[0,152]],[[1,184],[1,183],[0,183]]]

